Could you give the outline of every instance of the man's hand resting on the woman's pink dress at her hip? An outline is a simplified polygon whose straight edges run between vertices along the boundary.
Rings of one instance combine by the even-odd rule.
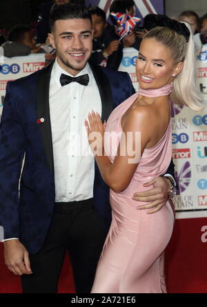
[[[165,177],[157,177],[144,184],[144,186],[153,186],[153,188],[144,192],[135,193],[132,199],[148,202],[149,204],[139,206],[139,209],[152,208],[152,210],[148,210],[147,213],[155,213],[166,204],[169,196],[170,183]]]

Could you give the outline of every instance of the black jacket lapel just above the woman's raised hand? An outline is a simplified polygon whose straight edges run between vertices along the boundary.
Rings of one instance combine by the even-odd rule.
[[[113,101],[112,101],[112,91],[110,88],[110,83],[108,78],[104,74],[103,70],[99,66],[90,66],[92,74],[97,81],[97,86],[99,88],[99,93],[101,96],[102,104],[102,121],[107,121],[110,113],[113,110]]]

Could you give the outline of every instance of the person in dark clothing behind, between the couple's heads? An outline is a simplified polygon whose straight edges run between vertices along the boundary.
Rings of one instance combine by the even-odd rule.
[[[106,13],[98,6],[89,8],[92,18],[93,41],[89,62],[118,70],[123,56],[123,45],[115,29],[106,23]]]

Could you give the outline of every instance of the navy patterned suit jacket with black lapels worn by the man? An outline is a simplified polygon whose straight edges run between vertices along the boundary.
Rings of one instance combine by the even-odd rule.
[[[55,204],[55,179],[50,127],[49,85],[52,64],[8,82],[0,125],[0,226],[4,239],[17,237],[30,253],[43,246]],[[135,90],[126,72],[92,67],[101,101],[102,119]],[[37,119],[44,119],[37,123]],[[20,181],[23,156],[25,162]],[[170,165],[172,173],[173,164]],[[95,164],[95,208],[110,225],[108,186]]]

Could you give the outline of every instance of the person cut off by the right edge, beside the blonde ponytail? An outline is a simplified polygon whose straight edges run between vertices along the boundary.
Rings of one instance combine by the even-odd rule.
[[[207,13],[204,14],[199,22],[199,33],[195,34],[194,37],[195,52],[199,53],[201,47],[207,43]]]

